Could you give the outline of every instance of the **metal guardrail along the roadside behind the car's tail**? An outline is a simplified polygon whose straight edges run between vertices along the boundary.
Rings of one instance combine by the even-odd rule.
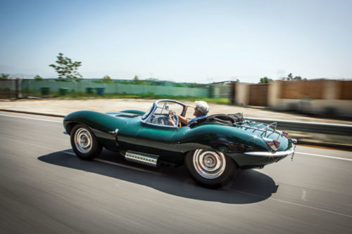
[[[256,122],[263,122],[265,124],[277,122],[277,129],[280,130],[305,131],[318,134],[352,136],[352,125],[348,124],[326,124],[315,122],[287,121],[280,119],[260,119],[251,117],[245,117],[245,119],[249,119]]]

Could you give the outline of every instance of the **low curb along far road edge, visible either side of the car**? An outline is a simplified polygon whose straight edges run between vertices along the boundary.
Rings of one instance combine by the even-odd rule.
[[[64,118],[65,115],[55,115],[55,114],[46,114],[46,113],[39,113],[39,112],[27,112],[21,110],[5,110],[0,109],[0,111],[4,112],[13,112],[13,113],[20,113],[20,114],[28,114],[28,115],[42,115],[42,116],[49,116],[49,117],[61,117]],[[334,148],[334,149],[341,149],[341,150],[352,150],[352,145],[344,145],[338,143],[327,143],[327,142],[317,142],[317,141],[307,141],[306,139],[300,140],[297,139],[297,145],[316,145],[316,146],[323,146],[327,148]]]

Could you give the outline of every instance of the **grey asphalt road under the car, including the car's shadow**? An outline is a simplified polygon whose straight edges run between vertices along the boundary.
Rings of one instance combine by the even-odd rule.
[[[0,112],[0,233],[351,233],[352,152],[299,146],[228,186],[104,150],[79,160],[61,118]]]

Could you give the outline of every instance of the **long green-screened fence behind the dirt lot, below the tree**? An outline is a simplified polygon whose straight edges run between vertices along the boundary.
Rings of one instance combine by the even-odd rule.
[[[137,84],[99,84],[91,80],[81,82],[58,82],[55,79],[0,79],[0,99],[17,98],[50,98],[65,96],[69,93],[103,93],[113,94],[137,94],[156,96],[194,96],[204,98],[227,98],[231,99],[232,86],[224,84],[212,84],[206,88],[137,85]]]

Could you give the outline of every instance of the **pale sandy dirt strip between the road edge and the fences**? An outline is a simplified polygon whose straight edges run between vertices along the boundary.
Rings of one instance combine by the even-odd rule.
[[[19,110],[25,112],[39,112],[55,115],[68,115],[77,110],[94,110],[98,112],[118,112],[121,110],[142,110],[146,111],[151,107],[154,100],[146,99],[87,99],[87,100],[15,100],[0,101],[0,109]],[[194,102],[184,102],[187,105],[194,105]],[[284,119],[290,121],[324,122],[334,124],[352,124],[351,121],[337,119],[322,119],[304,115],[294,115],[286,112],[273,112],[270,110],[258,110],[256,108],[244,108],[233,105],[209,104],[208,115],[231,114],[242,112],[244,117],[257,117],[266,119]]]

